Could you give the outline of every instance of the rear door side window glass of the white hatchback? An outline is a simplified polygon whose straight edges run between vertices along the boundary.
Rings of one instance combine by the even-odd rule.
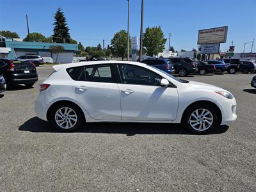
[[[68,68],[69,76],[75,81],[113,83],[112,65],[91,65]]]

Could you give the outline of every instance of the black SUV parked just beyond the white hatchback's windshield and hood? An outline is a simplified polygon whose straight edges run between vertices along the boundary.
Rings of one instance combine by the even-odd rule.
[[[198,72],[196,63],[191,58],[170,58],[169,61],[174,65],[174,70],[179,76],[188,76],[190,73]]]

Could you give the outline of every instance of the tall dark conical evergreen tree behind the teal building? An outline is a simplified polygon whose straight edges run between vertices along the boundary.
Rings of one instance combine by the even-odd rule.
[[[54,28],[52,40],[57,43],[68,43],[70,44],[71,38],[69,35],[69,28],[67,26],[66,17],[61,8],[58,8],[54,16]]]

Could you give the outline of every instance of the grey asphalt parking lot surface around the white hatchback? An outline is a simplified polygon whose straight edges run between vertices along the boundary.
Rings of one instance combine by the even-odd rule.
[[[256,191],[253,74],[191,75],[237,100],[237,120],[209,135],[182,125],[86,124],[56,131],[35,116],[34,88],[0,95],[0,191]]]

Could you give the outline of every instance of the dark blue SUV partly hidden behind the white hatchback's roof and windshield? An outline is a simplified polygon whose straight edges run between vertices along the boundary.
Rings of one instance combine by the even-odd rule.
[[[174,74],[174,66],[172,63],[169,63],[164,59],[148,59],[143,60],[141,63],[145,63],[147,65],[151,65],[153,67],[159,68],[168,74]]]

